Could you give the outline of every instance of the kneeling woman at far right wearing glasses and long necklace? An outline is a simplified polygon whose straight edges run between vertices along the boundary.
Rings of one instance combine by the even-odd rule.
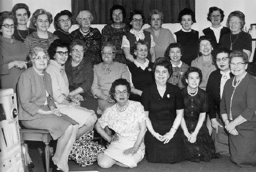
[[[230,160],[239,167],[256,166],[256,80],[247,74],[248,55],[230,53],[230,78],[223,90],[220,114],[229,132]]]

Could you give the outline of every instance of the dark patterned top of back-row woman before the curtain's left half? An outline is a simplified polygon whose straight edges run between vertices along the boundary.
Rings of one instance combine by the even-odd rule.
[[[129,32],[129,26],[125,25],[123,28],[113,28],[111,24],[104,26],[102,29],[102,45],[105,42],[113,42],[117,52],[115,53],[115,58],[113,61],[119,63],[126,63],[125,55],[123,55],[123,50],[121,49],[122,39],[125,32]]]

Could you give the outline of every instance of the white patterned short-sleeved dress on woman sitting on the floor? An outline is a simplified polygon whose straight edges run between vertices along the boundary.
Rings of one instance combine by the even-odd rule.
[[[113,129],[119,140],[111,142],[104,154],[130,168],[137,167],[137,163],[144,158],[144,142],[133,156],[131,154],[125,156],[123,151],[134,146],[140,132],[139,123],[144,120],[144,107],[138,101],[129,100],[129,106],[122,112],[118,111],[117,104],[106,109],[98,122],[102,129],[107,126]]]

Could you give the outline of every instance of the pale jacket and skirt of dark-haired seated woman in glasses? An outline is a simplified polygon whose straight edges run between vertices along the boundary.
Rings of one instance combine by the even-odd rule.
[[[62,103],[62,101],[69,96],[69,82],[67,80],[65,69],[63,68],[64,66],[59,65],[54,60],[51,60],[46,68],[46,72],[51,76],[55,105],[61,113],[68,115],[79,123],[79,127],[82,127],[94,111],[88,110],[84,107],[65,105]]]

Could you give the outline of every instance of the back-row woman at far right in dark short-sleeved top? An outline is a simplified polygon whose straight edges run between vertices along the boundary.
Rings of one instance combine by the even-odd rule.
[[[241,11],[233,11],[228,15],[226,25],[230,28],[231,32],[222,37],[220,47],[226,47],[231,51],[242,49],[250,57],[252,51],[251,35],[243,32],[245,15]]]

